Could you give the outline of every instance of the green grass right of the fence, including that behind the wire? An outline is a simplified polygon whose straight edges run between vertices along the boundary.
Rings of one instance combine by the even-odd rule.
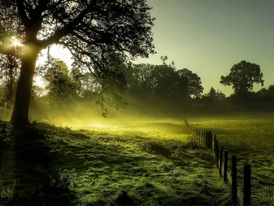
[[[238,174],[251,164],[251,203],[273,205],[274,201],[274,119],[189,119],[190,126],[210,130],[220,147],[238,159]],[[243,182],[239,183],[243,190]]]

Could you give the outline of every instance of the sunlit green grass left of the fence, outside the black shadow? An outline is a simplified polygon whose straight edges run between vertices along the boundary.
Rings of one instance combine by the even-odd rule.
[[[48,154],[42,153],[49,160],[45,170],[65,172],[75,205],[230,203],[213,153],[198,144],[182,122],[87,124],[92,130],[32,127],[49,148]]]

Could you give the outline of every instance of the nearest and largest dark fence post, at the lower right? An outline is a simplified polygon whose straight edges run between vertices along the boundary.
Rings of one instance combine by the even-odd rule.
[[[244,205],[251,204],[251,165],[244,165]]]

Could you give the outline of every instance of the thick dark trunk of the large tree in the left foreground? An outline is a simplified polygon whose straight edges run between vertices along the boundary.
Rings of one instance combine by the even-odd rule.
[[[29,124],[29,99],[32,92],[38,51],[32,49],[32,51],[28,51],[27,53],[21,59],[22,65],[16,88],[12,119],[10,119],[10,123],[14,128],[20,128]]]

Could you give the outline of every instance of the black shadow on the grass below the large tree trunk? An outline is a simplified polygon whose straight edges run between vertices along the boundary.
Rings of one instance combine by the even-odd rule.
[[[7,132],[10,134],[1,139],[3,205],[71,205],[75,195],[69,190],[69,174],[51,167],[55,157],[42,143],[45,136],[31,127],[20,133]],[[5,187],[10,181],[14,182],[12,191]]]

